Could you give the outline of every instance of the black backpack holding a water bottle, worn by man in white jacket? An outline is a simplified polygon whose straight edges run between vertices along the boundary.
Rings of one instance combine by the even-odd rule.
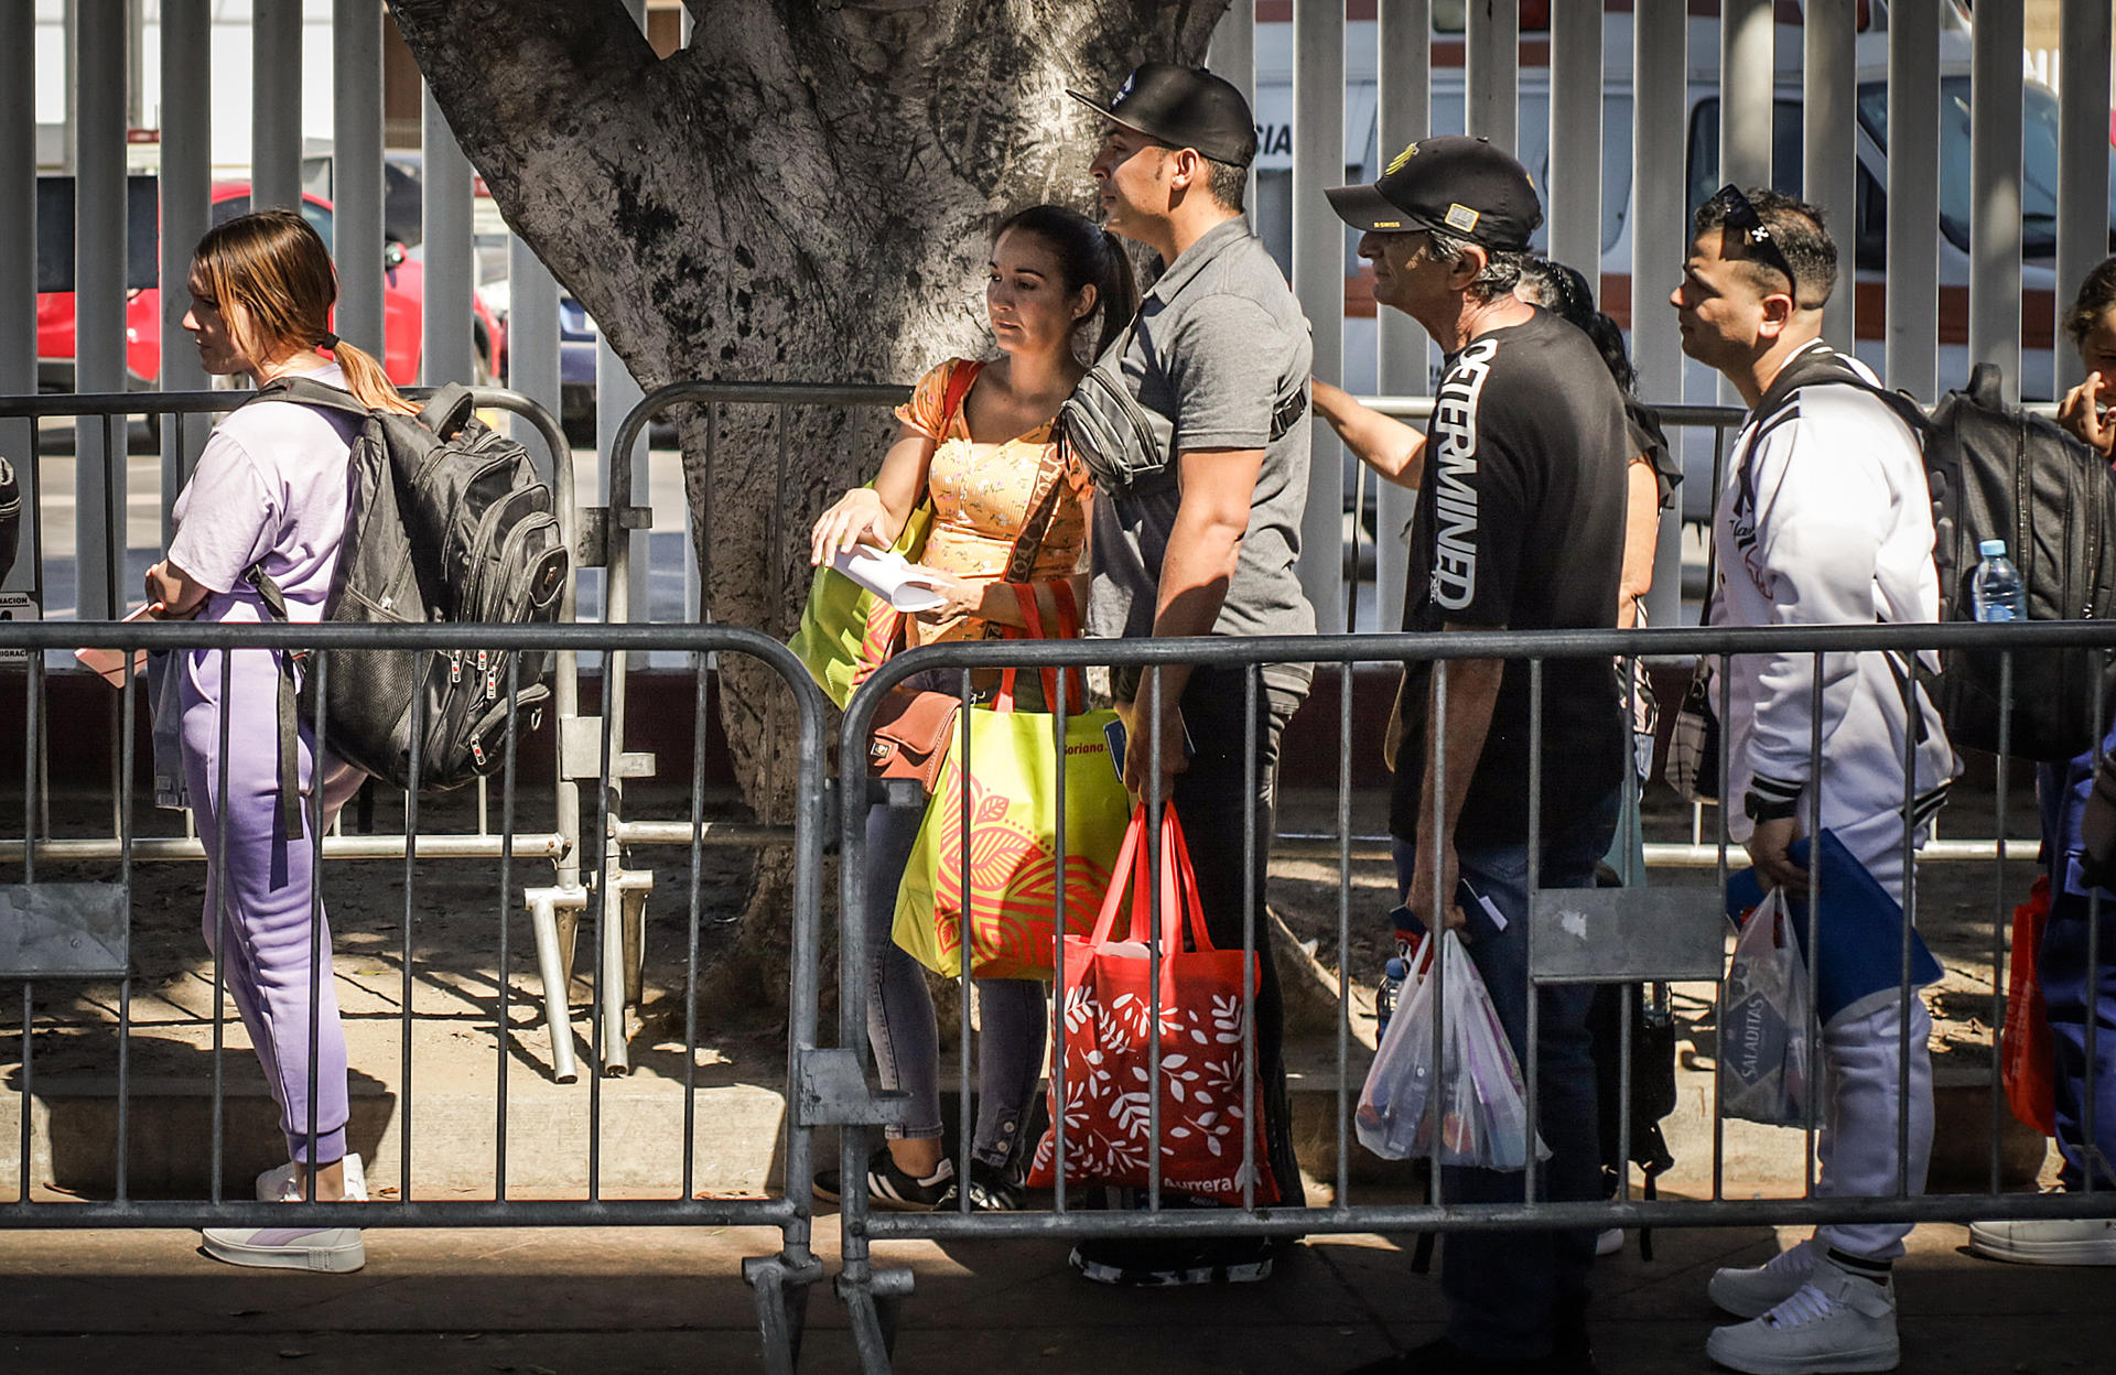
[[[2059,425],[2008,406],[2000,370],[1976,364],[1970,385],[1940,398],[1928,417],[1915,400],[1868,383],[1837,355],[1794,360],[1771,383],[1758,412],[1775,410],[1807,385],[1860,387],[1890,406],[1923,446],[1932,489],[1932,563],[1940,575],[1940,620],[1976,620],[1970,586],[1983,563],[1976,546],[2004,539],[2021,569],[2027,620],[2101,620],[2116,607],[2116,478],[2108,461]],[[2038,649],[2012,656],[2012,711],[2000,713],[2002,656],[1949,649],[1928,683],[1953,745],[2061,762],[2093,749],[2095,677],[2116,707],[2116,677],[2103,649]]]

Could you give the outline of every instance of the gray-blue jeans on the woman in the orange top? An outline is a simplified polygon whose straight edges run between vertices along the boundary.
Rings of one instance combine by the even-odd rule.
[[[927,971],[893,939],[897,888],[918,840],[923,808],[868,808],[868,1041],[884,1089],[912,1100],[895,1138],[933,1138],[940,1123],[940,1028]],[[971,1157],[1014,1163],[1043,1072],[1045,990],[1041,979],[971,979],[978,986],[978,1125]]]

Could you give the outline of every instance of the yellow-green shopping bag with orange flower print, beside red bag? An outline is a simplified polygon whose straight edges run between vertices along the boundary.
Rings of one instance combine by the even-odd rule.
[[[997,707],[971,707],[948,740],[925,823],[897,888],[895,941],[927,969],[980,979],[1050,979],[1058,927],[1060,717],[1011,709],[1011,671]],[[1071,694],[1071,700],[1079,700]],[[1124,846],[1132,800],[1109,757],[1113,711],[1064,726],[1064,927],[1094,929]],[[969,728],[969,844],[963,844],[963,721]],[[965,893],[967,872],[967,893]],[[965,903],[967,897],[967,903]],[[965,910],[967,908],[967,910]]]

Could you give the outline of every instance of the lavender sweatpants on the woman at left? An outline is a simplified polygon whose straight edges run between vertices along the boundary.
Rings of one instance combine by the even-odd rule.
[[[279,1104],[288,1157],[328,1166],[345,1155],[345,1028],[330,971],[330,924],[315,950],[324,962],[309,1041],[309,903],[313,850],[307,825],[288,840],[279,833],[279,666],[267,649],[235,649],[229,681],[229,789],[220,795],[220,673],[222,652],[184,656],[184,781],[190,810],[205,842],[205,946],[222,952],[229,992],[250,1028]],[[328,827],[364,772],[324,755],[324,825]],[[313,787],[315,740],[300,730],[300,789]],[[307,823],[307,808],[305,808]],[[220,857],[226,829],[226,857]],[[218,880],[218,882],[216,882]],[[222,920],[214,920],[220,888]],[[218,939],[226,933],[226,941]],[[315,1066],[315,1142],[309,1142],[309,1066]]]

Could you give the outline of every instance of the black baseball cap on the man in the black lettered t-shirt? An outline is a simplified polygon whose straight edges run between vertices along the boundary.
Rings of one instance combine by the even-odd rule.
[[[1337,186],[1331,209],[1352,228],[1437,228],[1485,248],[1526,250],[1543,224],[1536,184],[1485,138],[1418,140],[1371,186]]]

